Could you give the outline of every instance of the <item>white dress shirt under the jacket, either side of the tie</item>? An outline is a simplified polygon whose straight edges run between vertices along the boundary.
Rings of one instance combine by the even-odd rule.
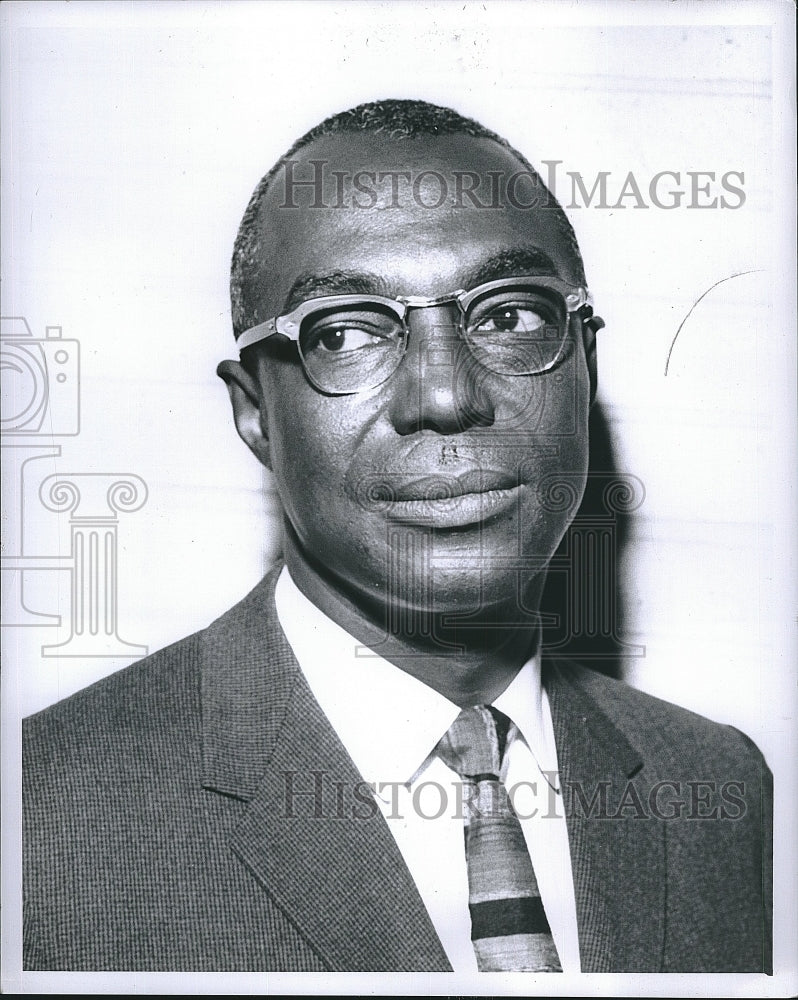
[[[477,971],[460,778],[433,753],[460,708],[363,647],[299,590],[286,567],[280,625],[316,700],[375,799],[455,972]],[[540,660],[493,702],[517,726],[502,780],[521,821],[564,972],[579,972],[571,855]]]

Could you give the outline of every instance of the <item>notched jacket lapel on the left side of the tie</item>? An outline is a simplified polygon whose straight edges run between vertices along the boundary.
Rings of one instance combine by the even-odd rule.
[[[204,785],[231,848],[333,970],[450,971],[374,799],[277,621],[273,571],[206,633]]]

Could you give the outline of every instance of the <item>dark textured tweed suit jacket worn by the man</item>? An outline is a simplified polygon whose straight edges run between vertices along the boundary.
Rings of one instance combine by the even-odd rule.
[[[360,775],[279,626],[275,580],[26,721],[26,969],[450,969],[382,815],[350,800]],[[545,662],[544,683],[574,793],[583,971],[766,970],[754,745],[574,664]]]

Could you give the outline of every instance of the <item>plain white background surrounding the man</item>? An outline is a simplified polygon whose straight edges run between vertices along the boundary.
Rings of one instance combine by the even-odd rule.
[[[618,192],[632,171],[648,201],[658,171],[688,192],[687,171],[744,172],[736,210],[691,210],[688,193],[672,211],[569,214],[607,321],[617,465],[646,489],[624,582],[624,637],[646,655],[627,679],[739,726],[792,783],[791,17],[789,3],[4,4],[2,315],[81,345],[81,433],[41,475],[147,483],[119,521],[120,635],[155,650],[204,627],[278,549],[269,484],[214,375],[235,356],[229,258],[252,189],[326,115],[422,98],[588,188],[604,170]],[[696,307],[665,377],[693,303],[743,271],[757,273]],[[66,518],[8,478],[4,501],[32,551],[68,545]],[[68,616],[67,574],[29,594]],[[7,722],[130,662],[40,655],[65,634],[3,630]],[[16,726],[6,736],[13,757]]]

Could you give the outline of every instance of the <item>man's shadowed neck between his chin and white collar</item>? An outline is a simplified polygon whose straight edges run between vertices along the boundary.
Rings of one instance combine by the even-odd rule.
[[[518,623],[513,593],[506,606],[470,615],[465,626],[451,625],[446,619],[452,609],[389,615],[383,602],[369,604],[309,556],[287,523],[283,547],[289,572],[308,600],[364,646],[463,708],[493,702],[537,648],[545,574],[533,578],[525,597],[528,623]],[[386,628],[393,619],[404,627]]]

